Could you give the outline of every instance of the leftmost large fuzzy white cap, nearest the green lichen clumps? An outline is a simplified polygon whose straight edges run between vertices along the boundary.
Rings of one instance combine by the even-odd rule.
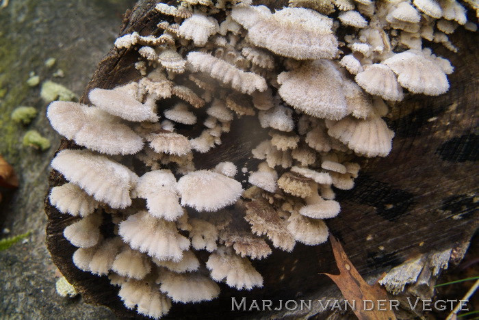
[[[118,118],[96,107],[54,101],[47,110],[51,126],[80,146],[108,155],[132,155],[143,148],[140,136]]]

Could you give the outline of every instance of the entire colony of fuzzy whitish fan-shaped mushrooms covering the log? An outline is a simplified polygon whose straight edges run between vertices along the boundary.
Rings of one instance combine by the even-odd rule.
[[[160,36],[115,42],[138,50],[139,81],[91,90],[90,106],[48,109],[53,128],[84,147],[51,163],[68,181],[51,204],[79,217],[64,230],[73,262],[155,319],[172,302],[217,297],[216,282],[262,286],[250,259],[272,247],[325,242],[324,219],[340,211],[333,187],[354,187],[358,156],[391,150],[385,101],[449,88],[450,62],[424,40],[455,52],[448,34],[476,27],[455,0],[291,0],[274,13],[185,0],[156,10],[174,21],[158,21]],[[248,181],[235,180],[231,162],[197,170],[195,155],[241,117],[270,136],[250,152],[261,161]],[[203,129],[187,137],[178,126]],[[101,212],[113,237],[100,232]]]

